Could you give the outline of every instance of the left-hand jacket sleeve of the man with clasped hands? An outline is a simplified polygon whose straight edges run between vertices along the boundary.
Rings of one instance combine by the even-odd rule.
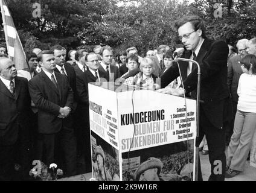
[[[30,92],[31,100],[36,105],[38,109],[42,109],[45,112],[51,113],[58,116],[60,111],[60,106],[46,100],[43,97],[43,93],[40,92],[38,84],[36,84],[33,79],[28,82],[28,89]]]

